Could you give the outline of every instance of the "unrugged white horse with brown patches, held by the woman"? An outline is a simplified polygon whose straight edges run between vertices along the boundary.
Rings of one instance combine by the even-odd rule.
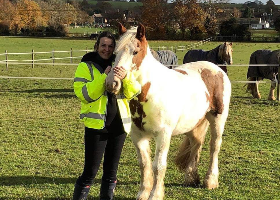
[[[200,61],[168,69],[149,49],[145,27],[127,30],[118,24],[120,39],[114,67],[122,66],[127,76],[142,86],[141,93],[129,102],[131,139],[136,147],[141,171],[139,200],[162,200],[164,176],[171,136],[185,134],[175,163],[185,172],[187,185],[200,183],[197,164],[204,137],[211,127],[210,165],[204,187],[218,187],[218,153],[228,116],[231,84],[217,65]],[[122,93],[121,80],[111,70],[105,80],[107,91]],[[149,140],[156,144],[153,163]]]

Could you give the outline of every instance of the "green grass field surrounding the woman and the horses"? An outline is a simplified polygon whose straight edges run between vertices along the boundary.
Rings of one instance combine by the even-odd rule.
[[[150,46],[187,44],[189,41],[149,41]],[[0,53],[85,49],[94,41],[0,37]],[[211,42],[201,48],[212,49]],[[279,43],[234,43],[234,64],[247,64],[257,49],[279,49]],[[75,52],[74,56],[83,52]],[[79,54],[78,54],[79,53]],[[177,52],[182,63],[186,52]],[[30,56],[30,55],[29,55]],[[41,54],[35,58],[40,58]],[[50,54],[51,56],[51,54]],[[66,56],[59,54],[57,56]],[[9,59],[18,57],[10,56]],[[0,56],[0,60],[5,58]],[[19,58],[18,58],[19,59]],[[25,58],[24,58],[25,59]],[[31,58],[30,58],[31,59]],[[74,63],[78,63],[76,59]],[[60,62],[69,63],[70,60]],[[75,66],[0,65],[0,76],[74,77]],[[246,80],[247,67],[228,67],[230,80]],[[168,81],[168,80],[167,80]],[[80,102],[71,80],[0,79],[0,199],[71,199],[74,182],[83,170],[83,124]],[[184,174],[172,160],[183,139],[173,137],[165,177],[165,199],[279,199],[280,102],[267,101],[270,85],[261,84],[262,99],[252,99],[232,84],[230,112],[219,153],[219,188],[184,186]],[[185,86],[195,87],[195,86]],[[174,97],[176,102],[176,97]],[[209,164],[209,133],[199,163],[200,179]],[[154,143],[152,142],[154,149]],[[102,167],[88,199],[98,199]],[[136,151],[127,137],[118,169],[116,198],[134,200],[140,182]]]

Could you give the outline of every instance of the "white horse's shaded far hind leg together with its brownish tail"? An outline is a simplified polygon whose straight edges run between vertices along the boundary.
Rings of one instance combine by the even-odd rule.
[[[197,187],[200,184],[197,165],[208,127],[209,122],[204,119],[195,129],[186,133],[185,141],[175,158],[175,164],[185,172],[187,186]]]

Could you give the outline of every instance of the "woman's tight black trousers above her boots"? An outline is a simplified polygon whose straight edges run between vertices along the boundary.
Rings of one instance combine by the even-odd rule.
[[[117,180],[117,170],[120,154],[125,142],[126,133],[98,133],[95,129],[85,128],[85,167],[77,184],[86,187],[93,183],[99,169],[103,153],[102,180],[114,183]]]

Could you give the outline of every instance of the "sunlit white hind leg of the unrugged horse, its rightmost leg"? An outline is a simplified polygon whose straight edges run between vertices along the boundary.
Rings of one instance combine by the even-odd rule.
[[[217,116],[210,112],[206,114],[206,118],[210,122],[211,127],[210,165],[206,177],[204,178],[203,186],[208,189],[217,188],[219,186],[218,154],[222,144],[222,135],[227,116],[228,110]]]

